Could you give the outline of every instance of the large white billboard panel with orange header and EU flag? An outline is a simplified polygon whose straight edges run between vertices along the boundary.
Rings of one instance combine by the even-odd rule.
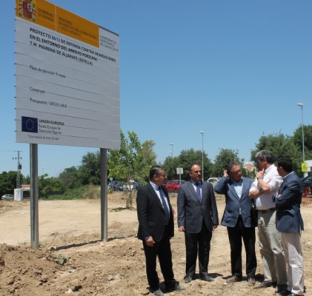
[[[17,142],[120,148],[119,35],[16,0]]]

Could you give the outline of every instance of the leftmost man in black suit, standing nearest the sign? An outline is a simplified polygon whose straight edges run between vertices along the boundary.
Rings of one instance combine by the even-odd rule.
[[[159,289],[156,271],[158,257],[166,292],[185,290],[174,279],[170,239],[173,237],[173,209],[166,187],[163,167],[155,165],[150,169],[150,182],[140,187],[137,192],[137,217],[139,220],[138,239],[143,241],[146,257],[146,275],[150,292],[157,296],[164,295]]]

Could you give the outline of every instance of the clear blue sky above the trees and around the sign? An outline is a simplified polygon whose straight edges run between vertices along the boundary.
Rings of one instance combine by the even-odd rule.
[[[220,148],[250,160],[261,135],[312,124],[311,0],[51,0],[120,35],[121,129],[155,141],[163,162]],[[3,1],[0,172],[29,174],[15,142],[15,1]],[[58,176],[93,148],[38,145],[39,174]],[[44,169],[42,169],[44,168]]]

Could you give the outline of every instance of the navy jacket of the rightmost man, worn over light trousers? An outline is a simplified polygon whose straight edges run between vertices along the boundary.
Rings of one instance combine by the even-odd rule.
[[[304,223],[300,213],[302,202],[302,183],[297,174],[286,176],[279,188],[279,197],[273,195],[276,204],[276,228],[279,232],[300,232],[304,230]]]

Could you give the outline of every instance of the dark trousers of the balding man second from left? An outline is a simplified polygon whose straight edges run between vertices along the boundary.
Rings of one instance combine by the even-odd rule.
[[[208,275],[211,237],[212,232],[207,229],[204,221],[202,221],[202,230],[200,232],[185,233],[185,247],[187,249],[185,273],[187,277],[194,277],[195,275],[197,255],[200,277]]]

